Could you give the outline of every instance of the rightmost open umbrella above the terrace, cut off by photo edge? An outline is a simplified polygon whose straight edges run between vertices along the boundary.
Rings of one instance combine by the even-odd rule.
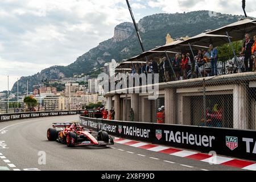
[[[256,35],[256,20],[241,19],[238,22],[228,24],[227,26],[218,28],[217,30],[209,31],[207,34],[226,35],[232,36],[232,41],[243,40],[245,34]]]

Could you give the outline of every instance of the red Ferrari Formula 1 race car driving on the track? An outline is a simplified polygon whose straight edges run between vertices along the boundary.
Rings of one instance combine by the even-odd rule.
[[[106,131],[99,131],[97,135],[93,135],[91,130],[81,127],[79,123],[53,123],[52,127],[47,130],[48,140],[65,143],[68,147],[114,144],[113,138]]]

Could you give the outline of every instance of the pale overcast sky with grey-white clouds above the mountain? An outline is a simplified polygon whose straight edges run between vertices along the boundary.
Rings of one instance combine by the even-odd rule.
[[[210,10],[243,14],[241,0],[130,0],[137,22],[156,13]],[[256,14],[255,0],[246,11]],[[125,0],[1,0],[0,91],[17,78],[52,65],[73,63],[98,43],[112,38],[114,27],[131,22]]]

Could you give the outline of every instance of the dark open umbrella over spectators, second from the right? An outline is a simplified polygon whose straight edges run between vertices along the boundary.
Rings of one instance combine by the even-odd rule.
[[[226,35],[213,35],[202,33],[192,38],[185,40],[182,44],[196,44],[199,46],[209,46],[213,44],[214,47],[221,46],[225,43],[228,43],[229,39]]]

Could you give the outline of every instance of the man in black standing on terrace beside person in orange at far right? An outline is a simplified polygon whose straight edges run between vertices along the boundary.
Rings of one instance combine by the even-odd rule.
[[[251,47],[253,47],[254,41],[249,34],[245,35],[245,43],[243,43],[241,55],[245,55],[245,71],[253,71],[253,60],[251,60]],[[248,65],[250,62],[250,66]]]

